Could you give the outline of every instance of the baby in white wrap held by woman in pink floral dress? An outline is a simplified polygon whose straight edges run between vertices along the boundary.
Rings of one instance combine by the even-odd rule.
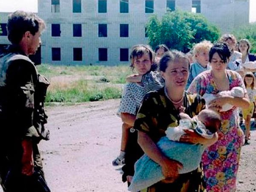
[[[204,93],[203,98],[207,105],[209,105],[209,102],[211,102],[213,99],[218,98],[218,96],[233,96],[233,97],[244,97],[244,90],[242,87],[233,87],[231,90],[228,91],[221,91],[218,94],[211,94],[211,93]],[[222,106],[220,111],[228,111],[233,108],[233,105],[225,104]]]

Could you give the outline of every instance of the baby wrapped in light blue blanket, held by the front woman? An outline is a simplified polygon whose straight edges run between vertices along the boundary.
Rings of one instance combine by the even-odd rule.
[[[198,116],[191,119],[186,113],[180,113],[180,125],[167,128],[166,137],[162,137],[157,146],[170,159],[182,163],[180,174],[195,170],[201,162],[201,156],[206,145],[181,143],[180,137],[185,134],[183,130],[191,129],[204,138],[212,138],[213,134],[221,127],[221,117],[210,109],[202,110]],[[144,154],[134,166],[135,173],[128,190],[140,191],[154,183],[164,180],[161,166]]]

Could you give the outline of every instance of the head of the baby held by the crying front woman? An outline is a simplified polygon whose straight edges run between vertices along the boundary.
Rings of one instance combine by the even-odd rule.
[[[210,131],[210,133],[212,134],[217,132],[221,127],[221,116],[211,109],[202,110],[198,114],[197,118],[200,122],[202,122],[205,125],[206,129]]]

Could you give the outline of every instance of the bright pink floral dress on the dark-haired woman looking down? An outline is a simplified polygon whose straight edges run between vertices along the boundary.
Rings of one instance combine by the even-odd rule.
[[[230,90],[233,87],[246,89],[241,76],[235,71],[226,70]],[[210,70],[197,76],[188,89],[189,93],[217,94],[219,92]],[[222,125],[218,131],[218,141],[209,146],[202,156],[207,192],[235,192],[236,175],[239,166],[243,131],[238,124],[237,108],[221,112]]]

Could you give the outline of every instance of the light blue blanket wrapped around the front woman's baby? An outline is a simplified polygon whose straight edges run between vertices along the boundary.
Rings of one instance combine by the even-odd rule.
[[[205,146],[201,144],[175,142],[167,137],[162,137],[157,142],[157,146],[167,157],[183,164],[183,169],[179,171],[180,174],[197,169],[205,149]],[[137,160],[134,169],[135,173],[128,187],[129,191],[140,191],[164,179],[161,166],[146,154]]]

